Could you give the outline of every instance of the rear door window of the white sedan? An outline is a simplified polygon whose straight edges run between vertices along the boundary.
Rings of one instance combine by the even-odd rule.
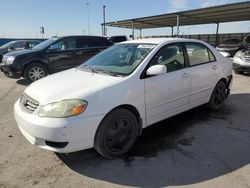
[[[187,43],[185,46],[187,49],[190,66],[196,66],[215,61],[213,53],[206,46],[199,43]]]

